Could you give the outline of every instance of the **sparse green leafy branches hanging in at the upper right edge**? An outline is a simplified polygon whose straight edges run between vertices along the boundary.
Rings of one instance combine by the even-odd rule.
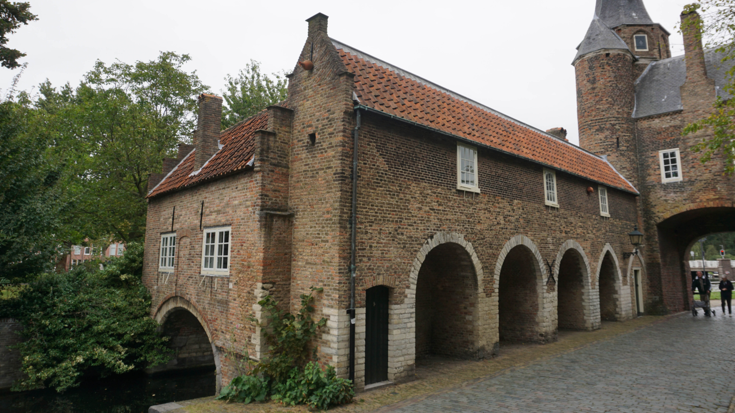
[[[686,5],[684,11],[698,11],[701,19],[689,19],[681,23],[681,31],[698,32],[700,40],[705,40],[705,48],[714,48],[723,54],[723,62],[735,57],[735,0],[697,0]],[[728,70],[724,87],[731,96],[735,96],[734,75],[735,66]],[[703,137],[702,142],[692,147],[692,151],[701,153],[699,159],[703,164],[722,152],[726,159],[725,173],[732,175],[735,172],[735,99],[718,97],[713,107],[714,111],[708,117],[686,125],[683,135],[711,131],[711,136]]]

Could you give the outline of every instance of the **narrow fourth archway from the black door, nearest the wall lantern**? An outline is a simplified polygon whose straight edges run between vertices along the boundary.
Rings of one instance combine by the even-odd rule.
[[[631,268],[630,263],[628,268]],[[623,321],[631,318],[631,291],[630,288],[624,288],[628,285],[628,277],[623,277],[617,254],[609,243],[600,252],[595,280],[598,283],[600,319]]]

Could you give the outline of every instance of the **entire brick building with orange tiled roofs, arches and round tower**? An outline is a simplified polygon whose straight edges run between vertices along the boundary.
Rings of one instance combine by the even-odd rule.
[[[666,112],[668,34],[640,1],[598,0],[578,48],[581,147],[308,22],[287,100],[221,131],[221,98],[201,95],[195,145],[151,175],[143,281],[179,354],[167,368],[214,363],[226,384],[230,337],[265,351],[257,301],[293,309],[315,286],[320,362],[359,389],[412,379],[429,354],[684,310],[689,244],[708,222],[735,230],[732,180],[679,136],[714,100],[688,95],[706,55],[687,44],[683,108]],[[642,257],[624,258],[636,226]]]

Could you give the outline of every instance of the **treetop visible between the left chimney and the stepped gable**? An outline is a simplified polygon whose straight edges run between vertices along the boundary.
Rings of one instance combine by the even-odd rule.
[[[260,73],[260,63],[254,60],[245,65],[237,77],[227,75],[225,80],[227,86],[222,97],[226,106],[222,109],[222,128],[229,128],[287,97],[288,80],[285,76],[271,73],[269,77]]]

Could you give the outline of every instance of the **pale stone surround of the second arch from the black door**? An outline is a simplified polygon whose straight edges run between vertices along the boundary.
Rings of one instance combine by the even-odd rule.
[[[513,265],[514,262],[506,262],[506,258],[515,260],[516,257],[513,255],[516,252],[523,251],[523,254],[528,256],[530,260],[526,263],[531,266],[528,268],[536,279],[536,303],[534,304],[537,308],[535,316],[535,328],[534,338],[532,340],[539,341],[541,343],[547,343],[549,341],[556,340],[555,326],[553,325],[553,307],[551,306],[553,301],[553,293],[546,288],[548,281],[548,271],[544,264],[543,257],[539,248],[528,238],[526,235],[515,235],[510,238],[509,241],[503,246],[501,252],[498,254],[498,261],[495,263],[495,274],[493,277],[493,293],[491,297],[492,316],[491,316],[491,329],[493,332],[493,338],[495,343],[500,342],[500,295],[501,295],[501,273],[503,272],[503,265]],[[506,268],[507,269],[507,268]],[[531,337],[528,337],[531,340]]]

